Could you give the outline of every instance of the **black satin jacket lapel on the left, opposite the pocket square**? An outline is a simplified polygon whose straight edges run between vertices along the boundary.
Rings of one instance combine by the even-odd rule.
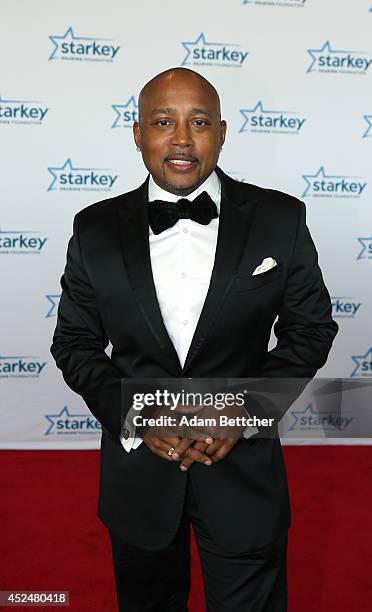
[[[119,201],[122,253],[138,308],[167,359],[174,376],[181,373],[177,352],[163,322],[152,276],[147,215],[148,179]]]

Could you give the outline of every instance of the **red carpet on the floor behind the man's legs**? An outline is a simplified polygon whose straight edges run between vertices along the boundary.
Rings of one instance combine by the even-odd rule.
[[[289,611],[370,612],[372,449],[286,447],[285,457]],[[71,612],[116,611],[98,465],[98,451],[0,451],[0,590],[68,590]],[[190,612],[203,612],[195,557],[193,570]]]

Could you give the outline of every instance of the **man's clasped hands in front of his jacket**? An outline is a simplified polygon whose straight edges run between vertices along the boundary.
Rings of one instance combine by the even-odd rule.
[[[158,415],[161,412],[160,410]],[[243,414],[246,415],[241,407],[229,407],[229,416],[242,416]],[[175,410],[174,417],[177,417],[178,421],[183,415],[203,415],[205,420],[216,419],[218,411],[210,406],[182,406]],[[218,425],[198,428],[177,426],[173,431],[171,426],[157,427],[156,430],[144,427],[141,437],[153,453],[166,461],[179,462],[180,469],[185,472],[194,462],[211,466],[224,459],[241,437],[243,430],[244,427]],[[174,449],[172,455],[168,454],[170,449]]]

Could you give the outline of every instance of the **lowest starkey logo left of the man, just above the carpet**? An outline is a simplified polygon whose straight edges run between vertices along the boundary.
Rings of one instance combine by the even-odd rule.
[[[68,406],[64,406],[60,412],[55,414],[46,414],[45,419],[48,421],[48,427],[44,436],[92,435],[101,433],[102,430],[101,423],[92,415],[74,414],[70,412]]]

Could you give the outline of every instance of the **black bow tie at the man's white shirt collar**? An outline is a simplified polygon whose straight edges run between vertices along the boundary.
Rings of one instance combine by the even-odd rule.
[[[201,225],[208,225],[218,217],[217,206],[203,191],[193,202],[182,198],[178,202],[154,200],[148,206],[149,224],[154,234],[161,234],[173,227],[179,219],[191,219]]]

